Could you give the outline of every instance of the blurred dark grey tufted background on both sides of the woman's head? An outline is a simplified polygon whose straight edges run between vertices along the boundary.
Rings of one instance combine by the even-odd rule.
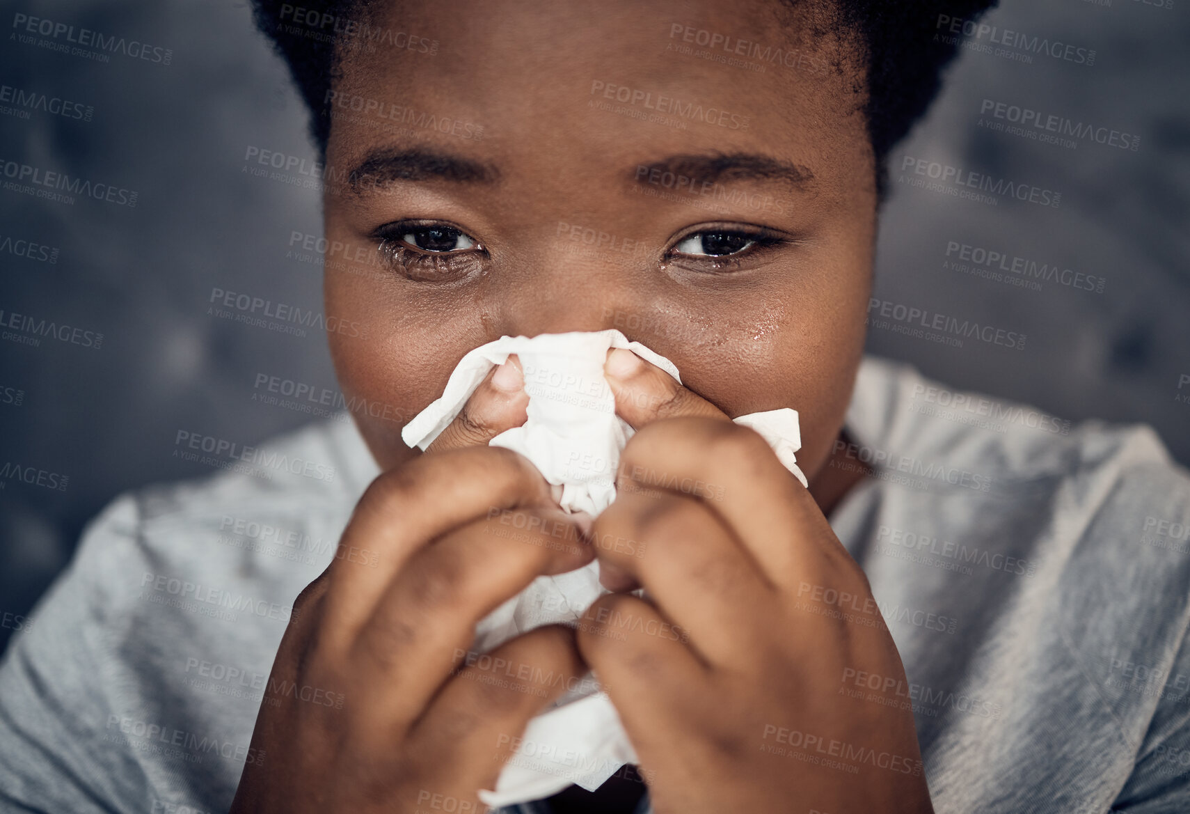
[[[105,63],[38,37],[20,42],[11,29],[0,51],[10,88],[0,88],[0,164],[137,192],[133,208],[0,188],[0,321],[17,313],[104,334],[98,350],[84,334],[0,340],[0,646],[105,503],[213,471],[173,457],[180,430],[253,444],[311,420],[253,401],[258,375],[334,387],[321,334],[207,313],[217,287],[320,311],[319,267],[300,245],[307,238],[293,238],[320,236],[317,194],[243,171],[251,148],[313,158],[305,112],[246,2],[5,6],[6,26],[29,14],[162,50]],[[1006,0],[984,20],[1094,50],[1094,64],[964,49],[929,117],[892,154],[875,296],[1023,332],[1027,344],[953,347],[875,328],[870,352],[1061,419],[1151,424],[1190,462],[1190,14],[1183,0],[1172,6]],[[67,114],[18,107],[5,96],[13,89],[73,105]],[[985,125],[1013,123],[981,121],[989,102],[1006,117],[1015,106],[1140,140],[1133,151],[995,131]],[[73,118],[87,107],[89,117]],[[917,188],[909,180],[921,176],[898,179],[904,156],[1059,192],[1060,205]],[[1096,292],[975,276],[944,265],[958,259],[951,244],[1106,283]],[[42,483],[13,478],[13,464]]]

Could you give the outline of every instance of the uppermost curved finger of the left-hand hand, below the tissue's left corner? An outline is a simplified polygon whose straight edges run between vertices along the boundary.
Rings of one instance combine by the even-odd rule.
[[[331,563],[325,638],[332,646],[353,639],[393,576],[430,540],[493,507],[519,506],[553,506],[550,484],[527,458],[502,447],[421,456],[377,477],[356,503]],[[368,552],[367,565],[353,556],[361,551]]]

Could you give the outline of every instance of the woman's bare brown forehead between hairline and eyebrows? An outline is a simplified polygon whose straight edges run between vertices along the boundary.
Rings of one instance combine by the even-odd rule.
[[[377,146],[620,171],[763,154],[819,180],[869,150],[853,49],[814,4],[374,4],[340,44],[338,162]]]

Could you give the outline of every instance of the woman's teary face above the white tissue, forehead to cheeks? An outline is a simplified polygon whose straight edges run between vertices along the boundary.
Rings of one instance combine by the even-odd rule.
[[[326,314],[367,326],[331,351],[347,399],[384,406],[356,417],[383,468],[466,351],[614,327],[728,415],[795,408],[821,469],[863,346],[873,158],[848,49],[781,8],[393,4],[346,37]]]

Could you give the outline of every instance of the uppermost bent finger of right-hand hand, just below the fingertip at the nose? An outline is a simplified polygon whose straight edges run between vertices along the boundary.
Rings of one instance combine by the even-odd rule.
[[[700,500],[785,589],[820,572],[823,555],[838,565],[852,562],[806,487],[749,427],[691,418],[651,424],[620,456],[616,488],[632,483]]]

